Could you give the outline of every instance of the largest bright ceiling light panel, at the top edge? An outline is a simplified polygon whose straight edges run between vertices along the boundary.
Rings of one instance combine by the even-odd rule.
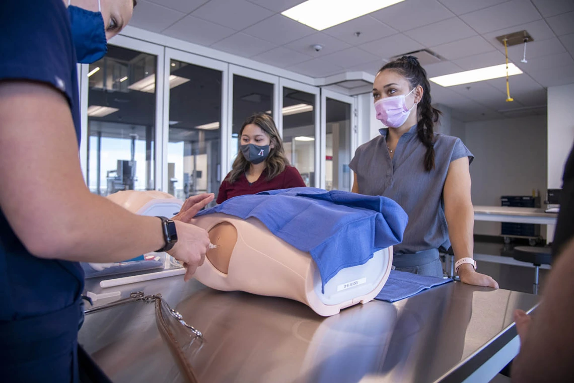
[[[323,30],[401,1],[404,0],[307,0],[281,14]]]

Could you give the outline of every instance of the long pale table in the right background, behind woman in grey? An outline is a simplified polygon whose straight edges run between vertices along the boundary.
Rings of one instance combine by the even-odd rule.
[[[557,213],[546,213],[544,209],[513,208],[511,206],[474,206],[475,221],[556,225],[557,218]]]

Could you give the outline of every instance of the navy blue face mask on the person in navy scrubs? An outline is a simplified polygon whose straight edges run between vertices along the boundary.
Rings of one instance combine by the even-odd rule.
[[[73,45],[76,47],[77,62],[91,64],[98,61],[107,53],[106,27],[104,26],[100,0],[98,0],[100,10],[98,12],[88,11],[69,4],[70,0],[68,0],[68,12],[72,24]]]

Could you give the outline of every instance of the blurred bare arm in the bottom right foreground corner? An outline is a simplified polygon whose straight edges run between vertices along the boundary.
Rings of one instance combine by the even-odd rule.
[[[515,313],[521,347],[512,364],[516,383],[572,382],[574,355],[574,242],[569,243],[552,266],[542,303],[532,321]],[[518,314],[518,315],[517,315]],[[530,322],[530,323],[529,323]],[[524,327],[529,323],[528,327]]]

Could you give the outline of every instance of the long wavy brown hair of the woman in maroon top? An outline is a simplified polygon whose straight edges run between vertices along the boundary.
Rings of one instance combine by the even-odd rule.
[[[243,125],[241,126],[241,130],[239,130],[239,138],[243,135],[243,130],[249,124],[257,125],[261,128],[262,131],[265,132],[271,139],[271,143],[273,144],[273,148],[269,150],[269,156],[265,159],[265,170],[267,170],[267,181],[272,180],[273,178],[277,177],[279,174],[283,173],[285,167],[289,165],[289,161],[285,157],[285,151],[283,150],[283,142],[281,137],[279,136],[279,131],[275,126],[275,122],[273,121],[272,116],[266,113],[255,113],[251,115],[251,117],[247,118]],[[235,161],[233,162],[233,166],[231,172],[229,173],[229,177],[227,177],[226,181],[230,183],[234,183],[237,181],[241,175],[243,175],[247,170],[249,170],[250,162],[247,161],[245,156],[241,150],[237,154]]]

